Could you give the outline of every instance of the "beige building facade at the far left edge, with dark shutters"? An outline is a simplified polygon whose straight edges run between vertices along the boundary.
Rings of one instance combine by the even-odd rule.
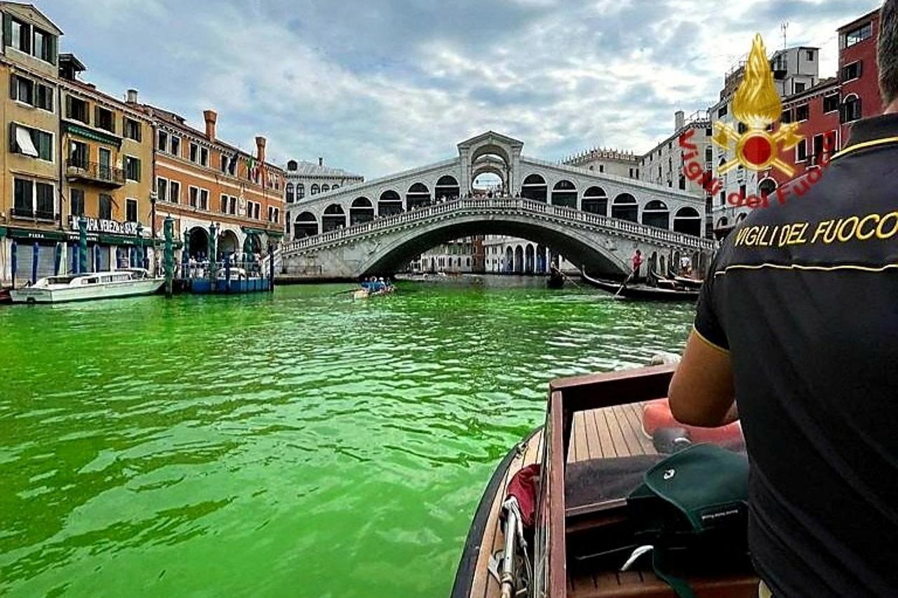
[[[0,284],[54,272],[66,247],[63,160],[59,136],[58,47],[62,31],[31,4],[0,3],[3,54],[0,110],[6,147],[0,153]]]

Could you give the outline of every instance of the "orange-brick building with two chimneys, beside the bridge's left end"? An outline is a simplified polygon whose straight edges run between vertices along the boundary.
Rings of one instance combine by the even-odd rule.
[[[203,113],[206,130],[190,127],[173,112],[144,105],[154,122],[154,236],[174,220],[179,260],[208,257],[210,234],[216,259],[265,253],[284,236],[284,175],[265,161],[265,137],[248,154],[216,138],[217,115]]]

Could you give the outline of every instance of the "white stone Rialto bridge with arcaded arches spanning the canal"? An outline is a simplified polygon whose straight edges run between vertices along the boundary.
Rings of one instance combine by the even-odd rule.
[[[391,274],[439,243],[480,234],[522,237],[605,274],[628,272],[637,249],[650,261],[678,252],[696,263],[714,251],[703,198],[527,158],[523,147],[490,131],[451,160],[288,204],[276,267],[294,277]],[[505,197],[471,197],[484,173]]]

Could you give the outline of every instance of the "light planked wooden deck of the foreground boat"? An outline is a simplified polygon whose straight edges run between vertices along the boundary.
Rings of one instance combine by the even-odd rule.
[[[642,403],[577,412],[574,416],[572,430],[568,462],[656,454],[652,441],[642,433]],[[498,518],[502,499],[505,497],[505,488],[508,480],[517,471],[531,463],[541,461],[541,456],[542,432],[540,431],[515,457],[515,461],[508,468],[506,477],[500,486],[502,490],[493,500],[477,561],[477,576],[471,587],[471,598],[500,598],[499,585],[493,576],[487,573],[487,570],[490,555],[503,548],[504,534],[499,527]],[[621,582],[627,582],[631,587],[641,586],[644,590],[647,585],[661,584],[655,576],[647,575],[646,579],[642,579],[642,577],[642,574],[634,572],[589,576],[588,579],[569,579],[568,595],[578,598],[620,596],[623,595],[620,593]],[[634,581],[638,583],[633,584]],[[660,587],[667,588],[666,585],[660,585]]]

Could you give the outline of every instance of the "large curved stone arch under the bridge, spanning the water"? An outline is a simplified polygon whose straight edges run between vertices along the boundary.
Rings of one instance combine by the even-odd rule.
[[[621,275],[629,272],[627,257],[612,251],[613,243],[601,236],[564,224],[533,220],[528,215],[507,214],[486,219],[482,215],[447,218],[427,226],[410,228],[383,240],[379,251],[360,265],[359,275],[385,275],[399,271],[421,253],[437,245],[481,234],[503,234],[525,239],[554,253],[579,256],[591,272]],[[523,249],[523,248],[522,248]]]

